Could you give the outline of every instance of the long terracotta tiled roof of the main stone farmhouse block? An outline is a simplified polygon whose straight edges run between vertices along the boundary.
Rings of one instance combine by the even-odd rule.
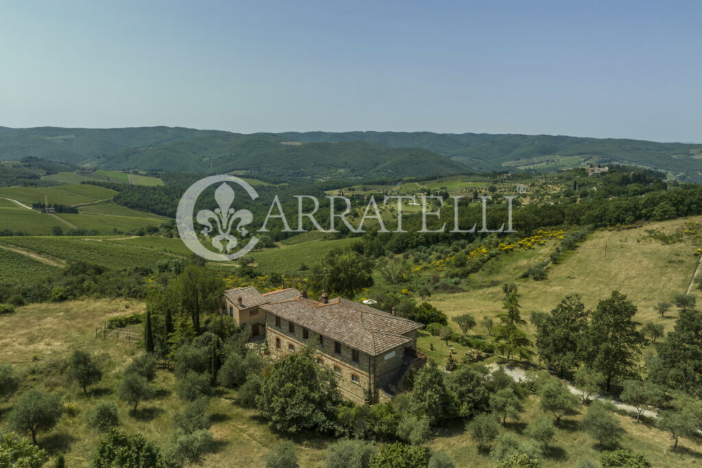
[[[423,327],[421,323],[339,298],[330,299],[329,304],[300,298],[261,308],[371,356],[411,342],[403,335]]]

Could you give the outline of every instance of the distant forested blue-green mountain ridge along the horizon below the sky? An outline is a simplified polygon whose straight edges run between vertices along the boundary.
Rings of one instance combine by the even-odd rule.
[[[301,144],[284,144],[288,142]],[[423,176],[631,164],[666,171],[682,181],[702,181],[702,144],[549,135],[0,127],[0,160],[25,156],[101,169],[248,171],[283,177]]]

